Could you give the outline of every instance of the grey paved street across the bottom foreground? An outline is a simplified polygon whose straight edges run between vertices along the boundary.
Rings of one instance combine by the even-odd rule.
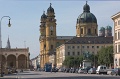
[[[120,79],[120,76],[24,71],[18,74],[5,75],[0,79]]]

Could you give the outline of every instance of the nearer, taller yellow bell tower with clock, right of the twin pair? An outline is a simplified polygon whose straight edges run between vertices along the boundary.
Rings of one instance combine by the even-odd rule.
[[[51,6],[47,9],[47,19],[46,19],[46,63],[51,61],[51,55],[54,55],[55,48],[56,48],[56,19],[55,19],[55,12]]]

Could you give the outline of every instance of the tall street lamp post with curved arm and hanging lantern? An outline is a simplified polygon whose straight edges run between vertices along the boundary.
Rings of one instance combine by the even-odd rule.
[[[9,18],[8,27],[10,27],[10,26],[11,26],[11,24],[10,24],[10,19],[11,19],[11,18],[10,18],[9,16],[3,16],[3,17],[1,18],[1,20],[0,20],[0,50],[1,50],[1,52],[0,52],[0,53],[1,53],[1,55],[0,55],[0,56],[1,56],[1,57],[0,57],[0,58],[1,58],[1,63],[0,63],[0,64],[1,64],[1,77],[3,77],[3,68],[2,68],[2,39],[1,39],[1,22],[2,22],[2,19],[3,19],[3,18],[5,18],[5,17],[6,17],[6,18]]]

